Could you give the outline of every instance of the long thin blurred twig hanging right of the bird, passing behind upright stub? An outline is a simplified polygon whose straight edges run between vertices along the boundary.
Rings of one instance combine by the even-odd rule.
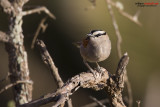
[[[110,15],[112,17],[112,23],[113,23],[113,26],[114,26],[114,29],[115,29],[115,32],[116,32],[116,36],[117,36],[117,52],[118,52],[118,57],[120,58],[121,55],[122,55],[122,51],[121,51],[122,37],[121,37],[120,31],[119,31],[119,28],[118,28],[118,24],[116,22],[116,18],[114,16],[113,9],[112,9],[112,6],[111,6],[111,4],[113,5],[113,3],[111,3],[111,0],[106,0],[106,2],[107,2],[109,13],[110,13]],[[127,84],[127,90],[128,90],[128,96],[129,96],[128,105],[129,105],[129,107],[132,107],[133,96],[132,96],[131,85],[130,85],[130,82],[128,80],[126,69],[125,69],[125,78],[124,79],[125,79],[125,82]]]

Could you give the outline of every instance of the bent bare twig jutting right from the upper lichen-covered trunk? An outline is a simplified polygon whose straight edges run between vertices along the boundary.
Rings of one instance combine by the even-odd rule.
[[[22,15],[26,16],[26,15],[30,15],[30,14],[34,14],[34,13],[41,13],[41,12],[45,12],[52,19],[56,19],[56,17],[44,6],[37,7],[37,8],[32,9],[32,10],[23,11]]]

